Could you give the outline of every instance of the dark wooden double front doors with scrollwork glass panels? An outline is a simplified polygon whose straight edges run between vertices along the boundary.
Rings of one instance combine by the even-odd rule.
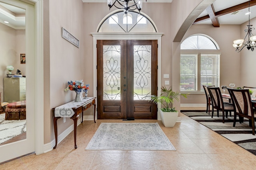
[[[157,119],[157,40],[97,40],[98,119]]]

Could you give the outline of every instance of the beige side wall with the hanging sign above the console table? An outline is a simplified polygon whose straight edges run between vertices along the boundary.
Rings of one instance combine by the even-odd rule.
[[[44,107],[44,142],[49,143],[54,139],[52,108],[74,100],[75,92],[64,92],[68,81],[84,79],[84,11],[82,0],[49,0],[45,3],[44,23],[49,24],[49,29],[44,27],[44,101],[48,106]],[[80,40],[79,48],[62,38],[62,27]],[[72,119],[66,119],[65,123],[59,119],[58,134],[72,123]]]

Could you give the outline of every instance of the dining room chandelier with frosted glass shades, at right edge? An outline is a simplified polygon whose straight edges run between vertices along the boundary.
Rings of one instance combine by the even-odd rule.
[[[249,8],[248,8],[248,13],[249,13],[249,20],[248,20],[248,27],[247,29],[244,29],[244,32],[247,32],[244,39],[237,39],[234,41],[233,47],[236,48],[236,52],[242,51],[244,47],[246,47],[248,50],[254,51],[254,47],[256,47],[256,36],[252,34],[252,30],[255,28],[252,28],[252,25],[250,25],[250,0],[249,1]],[[247,39],[246,39],[247,37]]]

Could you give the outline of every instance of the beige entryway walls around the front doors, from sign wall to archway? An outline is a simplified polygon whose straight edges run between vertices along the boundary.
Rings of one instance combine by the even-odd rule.
[[[199,13],[198,15],[193,13],[197,4],[208,6],[207,4],[212,1],[214,0],[204,0],[205,4],[201,3],[202,0],[193,0],[193,2],[191,0],[173,0],[172,3],[143,4],[142,12],[154,21],[158,32],[164,33],[162,36],[161,72],[170,74],[169,80],[174,90],[179,90],[180,84],[180,43],[172,42],[178,31],[181,32],[180,37],[183,37],[182,34],[186,32],[182,30],[181,26],[190,27],[193,18],[195,19],[203,10],[198,9],[196,11]],[[46,9],[48,6],[49,12]],[[96,32],[98,24],[109,12],[106,3],[50,0],[48,4],[48,0],[44,1],[44,19],[46,20],[44,21],[46,23],[44,28],[44,102],[46,102],[44,107],[44,143],[54,140],[51,109],[74,99],[73,92],[64,92],[68,80],[83,79],[86,84],[90,84],[89,96],[93,95],[94,88],[96,88],[96,85],[93,84],[93,76],[96,75],[92,74],[93,38],[90,33]],[[190,16],[190,20],[187,20],[190,14],[193,15]],[[66,28],[80,40],[79,49],[61,37],[61,27]],[[162,79],[162,85],[164,80],[166,79]],[[92,110],[88,112],[86,111],[86,114],[92,115]],[[66,123],[62,122],[63,120],[59,119],[58,134],[72,125],[72,121],[68,119]]]

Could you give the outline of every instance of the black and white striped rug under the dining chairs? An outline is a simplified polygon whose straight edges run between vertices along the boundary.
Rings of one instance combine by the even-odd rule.
[[[225,117],[225,123],[222,123],[222,113],[217,117],[217,113],[214,112],[213,118],[212,113],[210,115],[205,112],[182,113],[256,155],[256,135],[252,135],[252,128],[249,127],[248,119],[244,118],[244,122],[239,123],[237,118],[236,127],[233,127],[233,112],[231,117]]]

